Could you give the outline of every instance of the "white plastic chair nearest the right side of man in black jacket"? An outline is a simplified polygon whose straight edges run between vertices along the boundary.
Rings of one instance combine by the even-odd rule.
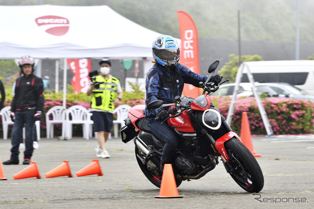
[[[46,131],[48,139],[53,138],[54,124],[62,124],[62,137],[64,137],[65,112],[66,112],[65,107],[61,105],[56,105],[50,108],[46,113],[46,127],[47,127]]]

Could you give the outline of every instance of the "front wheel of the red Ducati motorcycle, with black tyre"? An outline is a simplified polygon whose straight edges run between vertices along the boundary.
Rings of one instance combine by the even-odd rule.
[[[247,192],[260,192],[264,186],[262,169],[252,153],[239,140],[225,143],[229,163],[235,169],[230,176]]]

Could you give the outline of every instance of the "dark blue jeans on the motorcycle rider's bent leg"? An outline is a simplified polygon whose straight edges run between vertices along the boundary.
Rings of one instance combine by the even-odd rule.
[[[179,146],[180,138],[177,133],[169,128],[167,123],[163,123],[162,125],[160,123],[161,121],[147,122],[147,125],[155,135],[166,142],[162,150],[161,159],[169,161],[172,160],[174,151]]]

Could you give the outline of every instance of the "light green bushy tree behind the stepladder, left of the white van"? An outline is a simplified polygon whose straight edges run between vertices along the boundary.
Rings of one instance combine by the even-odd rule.
[[[218,72],[219,75],[222,75],[226,79],[230,79],[231,82],[235,82],[235,77],[237,70],[239,68],[239,56],[235,54],[230,54],[230,62],[221,68]],[[260,55],[243,55],[241,56],[242,62],[250,61],[262,61],[262,56]]]

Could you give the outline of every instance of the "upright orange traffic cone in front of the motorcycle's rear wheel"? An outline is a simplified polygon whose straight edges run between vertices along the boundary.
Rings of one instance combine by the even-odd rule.
[[[159,195],[156,198],[179,198],[175,175],[173,174],[172,165],[165,164],[162,172]]]

